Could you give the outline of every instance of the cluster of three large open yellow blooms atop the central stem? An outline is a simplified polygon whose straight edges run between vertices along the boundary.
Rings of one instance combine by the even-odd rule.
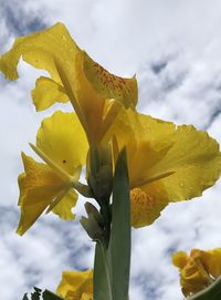
[[[32,91],[36,111],[69,101],[75,111],[55,112],[42,122],[32,148],[44,164],[22,154],[20,235],[45,209],[64,219],[74,217],[73,187],[92,146],[110,145],[114,162],[126,146],[134,227],[151,224],[169,203],[200,196],[220,177],[221,154],[213,138],[191,125],[138,113],[136,77],[107,72],[76,45],[62,23],[15,40],[0,58],[7,79],[18,79],[20,56],[50,74],[39,77]]]

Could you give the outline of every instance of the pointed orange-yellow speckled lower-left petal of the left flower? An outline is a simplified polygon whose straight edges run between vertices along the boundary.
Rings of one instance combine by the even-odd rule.
[[[21,217],[17,232],[23,235],[65,187],[44,164],[22,153],[25,173],[19,176]]]

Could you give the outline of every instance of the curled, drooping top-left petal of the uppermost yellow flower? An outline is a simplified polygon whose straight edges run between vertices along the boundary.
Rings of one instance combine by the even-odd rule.
[[[60,82],[54,60],[62,60],[64,66],[67,66],[74,62],[78,51],[66,28],[56,23],[46,30],[18,38],[12,49],[1,56],[0,70],[7,79],[17,80],[17,65],[22,56],[27,63],[46,70],[55,82]]]

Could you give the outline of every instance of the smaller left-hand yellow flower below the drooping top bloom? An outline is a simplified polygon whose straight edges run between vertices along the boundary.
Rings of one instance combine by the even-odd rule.
[[[63,219],[73,219],[77,200],[72,189],[86,162],[88,144],[76,114],[55,112],[38,132],[36,147],[48,164],[22,153],[24,173],[19,176],[21,218],[18,234],[23,235],[48,208]]]

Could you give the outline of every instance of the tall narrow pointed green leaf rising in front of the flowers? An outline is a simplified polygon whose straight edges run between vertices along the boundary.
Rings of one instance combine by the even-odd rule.
[[[119,154],[113,184],[109,241],[113,300],[127,300],[130,269],[130,197],[126,149]]]

